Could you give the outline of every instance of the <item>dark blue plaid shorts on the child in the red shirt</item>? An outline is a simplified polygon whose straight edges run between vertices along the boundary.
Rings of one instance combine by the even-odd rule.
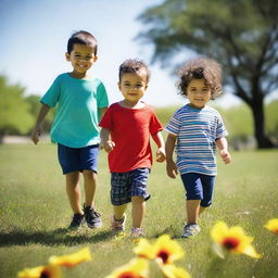
[[[122,205],[131,202],[131,197],[150,199],[147,192],[149,168],[137,168],[126,173],[111,173],[111,203]]]

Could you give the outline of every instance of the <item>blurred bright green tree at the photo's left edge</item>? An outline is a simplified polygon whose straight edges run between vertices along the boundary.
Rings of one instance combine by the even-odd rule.
[[[8,134],[25,134],[35,119],[29,113],[29,104],[20,85],[9,85],[7,77],[0,76],[0,142]]]

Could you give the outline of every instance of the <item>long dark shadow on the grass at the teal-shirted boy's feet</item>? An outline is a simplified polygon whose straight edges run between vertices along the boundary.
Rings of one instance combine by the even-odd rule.
[[[110,230],[70,231],[59,228],[52,231],[0,231],[0,247],[42,244],[42,245],[76,245],[81,243],[97,243],[113,237]]]

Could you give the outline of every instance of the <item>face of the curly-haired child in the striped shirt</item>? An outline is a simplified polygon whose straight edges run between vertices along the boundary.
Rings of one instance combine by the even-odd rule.
[[[193,108],[202,109],[211,100],[212,90],[204,78],[193,79],[187,87],[186,96]]]

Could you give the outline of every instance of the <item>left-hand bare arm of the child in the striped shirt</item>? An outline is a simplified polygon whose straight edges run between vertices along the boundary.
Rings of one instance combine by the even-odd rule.
[[[173,160],[173,153],[175,150],[176,139],[177,139],[177,137],[175,135],[168,134],[166,144],[165,144],[166,169],[167,169],[167,175],[170,178],[176,178],[176,176],[178,175],[177,165]]]

